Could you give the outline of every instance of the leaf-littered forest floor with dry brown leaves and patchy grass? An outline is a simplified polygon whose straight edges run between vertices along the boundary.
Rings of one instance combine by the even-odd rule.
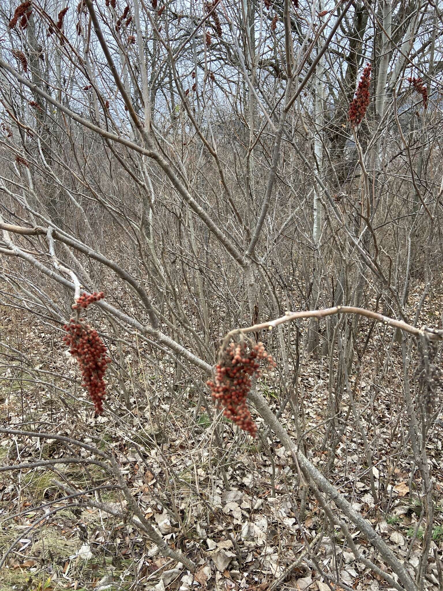
[[[442,302],[441,294],[434,294],[422,323],[438,323]],[[112,450],[145,518],[172,548],[180,548],[197,564],[197,571],[191,574],[183,564],[162,557],[133,523],[88,508],[82,504],[84,497],[65,498],[62,483],[76,491],[95,488],[99,490],[88,492],[88,498],[124,510],[120,489],[100,489],[115,485],[102,467],[63,462],[66,449],[54,439],[4,434],[2,466],[59,457],[60,463],[0,474],[0,589],[389,589],[355,559],[339,530],[324,528],[314,497],[308,496],[303,521],[298,521],[297,470],[272,435],[252,440],[219,417],[221,460],[213,421],[204,406],[196,405],[192,381],[182,378],[171,393],[158,369],[118,347],[113,355],[119,354],[126,368],[136,365],[137,371],[128,369],[120,380],[110,376],[122,402],[113,413],[95,417],[92,407],[84,404],[78,368],[57,335],[43,322],[31,326],[10,314],[5,309],[0,315],[1,341],[15,349],[0,349],[0,423]],[[367,327],[369,323],[363,323],[364,335]],[[356,421],[348,420],[332,461],[324,445],[327,358],[301,356],[302,428],[311,462],[361,511],[396,556],[408,561],[413,574],[426,527],[421,479],[418,470],[411,472],[400,346],[391,343],[388,352],[384,343],[389,344],[386,335],[392,333],[385,330],[374,327],[359,370],[349,376],[359,405],[359,428],[370,441],[375,498]],[[174,368],[164,362],[159,371],[165,376]],[[263,375],[258,388],[277,411],[278,375]],[[145,393],[143,404],[140,392]],[[346,416],[346,396],[341,404]],[[289,405],[281,420],[295,437]],[[257,422],[263,429],[260,418]],[[442,439],[443,414],[435,417],[426,439],[435,501],[427,589],[438,589],[435,556],[443,551]],[[79,456],[85,457],[84,452]],[[351,533],[360,552],[373,557],[360,532]],[[304,555],[306,541],[312,540],[322,576],[312,556]],[[383,558],[375,560],[387,568]],[[336,577],[340,586],[330,585],[328,576]]]

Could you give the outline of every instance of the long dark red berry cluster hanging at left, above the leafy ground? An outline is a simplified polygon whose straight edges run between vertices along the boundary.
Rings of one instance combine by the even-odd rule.
[[[94,292],[87,296],[84,294],[76,300],[72,307],[74,310],[86,308],[93,301],[101,300],[104,297],[103,291]],[[85,388],[94,403],[97,414],[103,412],[103,399],[105,398],[105,376],[106,368],[110,363],[108,351],[105,343],[87,324],[83,324],[78,317],[78,311],[75,318],[71,318],[68,324],[64,325],[67,335],[63,337],[64,342],[69,346],[69,352],[77,359],[82,371],[82,386]]]

